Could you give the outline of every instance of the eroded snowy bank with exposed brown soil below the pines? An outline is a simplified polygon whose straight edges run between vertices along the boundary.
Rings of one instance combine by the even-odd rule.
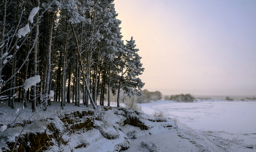
[[[62,110],[60,102],[51,104],[47,111],[37,108],[36,113],[21,104],[15,110],[6,104],[0,107],[1,151],[12,151],[14,145],[15,151],[123,151],[131,139],[175,128],[170,119],[124,107],[94,110],[66,103]]]

